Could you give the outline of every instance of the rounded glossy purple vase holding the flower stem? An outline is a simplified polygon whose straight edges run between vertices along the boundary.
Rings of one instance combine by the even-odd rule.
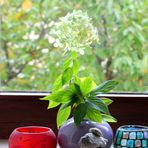
[[[102,124],[85,120],[81,122],[79,127],[75,126],[73,118],[69,119],[58,132],[58,142],[61,148],[79,148],[78,142],[82,136],[89,132],[90,128],[98,128],[102,131],[103,137],[108,140],[109,148],[113,142],[113,131],[110,125],[103,121]]]

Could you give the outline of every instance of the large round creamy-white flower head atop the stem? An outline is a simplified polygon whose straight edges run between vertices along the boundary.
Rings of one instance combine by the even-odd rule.
[[[93,26],[86,12],[74,10],[61,17],[51,29],[54,38],[53,45],[64,50],[77,51],[84,54],[84,49],[93,41],[98,41],[98,31]]]

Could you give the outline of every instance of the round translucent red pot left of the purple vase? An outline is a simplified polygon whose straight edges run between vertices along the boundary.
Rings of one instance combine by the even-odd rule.
[[[56,148],[54,132],[47,127],[16,128],[9,137],[9,148]]]

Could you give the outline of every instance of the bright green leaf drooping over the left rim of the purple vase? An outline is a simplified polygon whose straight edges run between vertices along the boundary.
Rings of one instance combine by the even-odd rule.
[[[61,105],[60,109],[58,110],[57,113],[57,126],[58,128],[63,125],[66,120],[69,118],[70,113],[71,113],[71,107],[67,107],[65,109],[61,109],[63,105]]]

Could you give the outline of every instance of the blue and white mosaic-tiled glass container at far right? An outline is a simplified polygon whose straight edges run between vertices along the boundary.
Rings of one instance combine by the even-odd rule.
[[[148,148],[148,127],[125,125],[117,129],[114,148]]]

